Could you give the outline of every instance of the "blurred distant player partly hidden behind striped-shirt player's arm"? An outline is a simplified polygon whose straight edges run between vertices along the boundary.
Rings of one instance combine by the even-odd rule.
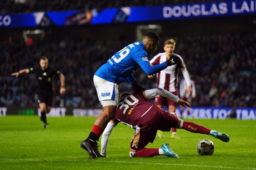
[[[179,95],[180,98],[186,102],[191,103],[192,98],[195,98],[195,82],[190,79],[191,87],[192,87],[192,95],[189,95],[189,93],[186,93],[187,90],[187,83],[185,82],[184,79],[180,81],[179,84]],[[189,115],[190,114],[190,108],[187,108],[187,113],[184,113],[184,107],[180,106],[180,115],[183,117],[184,115]]]

